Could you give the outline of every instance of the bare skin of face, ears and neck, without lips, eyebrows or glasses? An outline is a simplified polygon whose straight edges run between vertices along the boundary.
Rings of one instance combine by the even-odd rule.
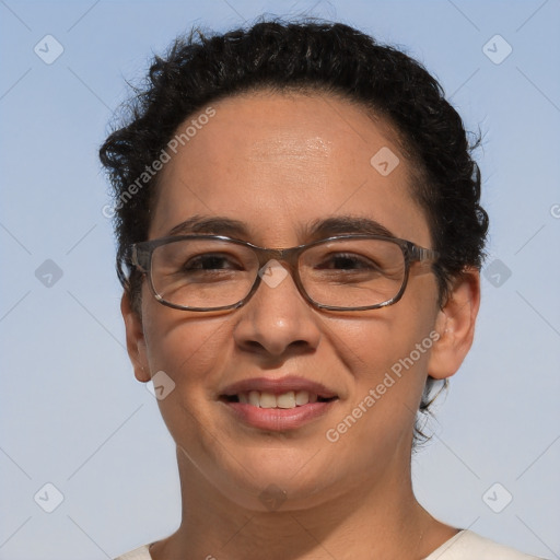
[[[324,94],[260,92],[213,104],[215,116],[164,166],[149,237],[194,215],[246,224],[250,241],[291,247],[314,220],[374,219],[396,236],[431,247],[411,197],[412,166],[388,122]],[[381,148],[400,160],[387,176],[370,164]],[[209,232],[217,233],[217,232]],[[159,401],[177,444],[183,520],[155,542],[155,560],[421,559],[457,529],[431,517],[411,488],[416,410],[428,373],[453,375],[468,352],[479,277],[466,270],[438,304],[433,273],[415,265],[405,295],[370,312],[308,305],[291,277],[261,284],[243,307],[192,313],[165,307],[144,281],[141,315],[122,298],[135,373],[163,370],[175,389]],[[440,339],[336,443],[336,427],[385,372],[430,332]],[[317,381],[339,399],[323,417],[285,432],[232,418],[220,389],[288,374]],[[259,499],[275,485],[283,501]]]

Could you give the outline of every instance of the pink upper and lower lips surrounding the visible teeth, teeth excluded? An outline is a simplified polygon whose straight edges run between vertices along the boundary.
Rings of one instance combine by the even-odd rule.
[[[337,397],[334,400],[307,402],[295,408],[259,408],[245,402],[232,402],[220,398],[220,404],[242,422],[266,431],[295,430],[326,415],[338,400],[338,395],[325,385],[303,377],[285,376],[280,378],[255,377],[243,380],[226,386],[220,392],[220,397],[233,396],[240,393],[259,390],[281,395],[288,390],[307,390],[323,398]]]

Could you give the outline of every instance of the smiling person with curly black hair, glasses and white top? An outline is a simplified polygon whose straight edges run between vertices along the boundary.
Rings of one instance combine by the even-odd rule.
[[[479,307],[470,148],[420,65],[341,24],[155,60],[101,158],[183,518],[120,559],[532,558],[433,518],[411,486],[417,412]]]

